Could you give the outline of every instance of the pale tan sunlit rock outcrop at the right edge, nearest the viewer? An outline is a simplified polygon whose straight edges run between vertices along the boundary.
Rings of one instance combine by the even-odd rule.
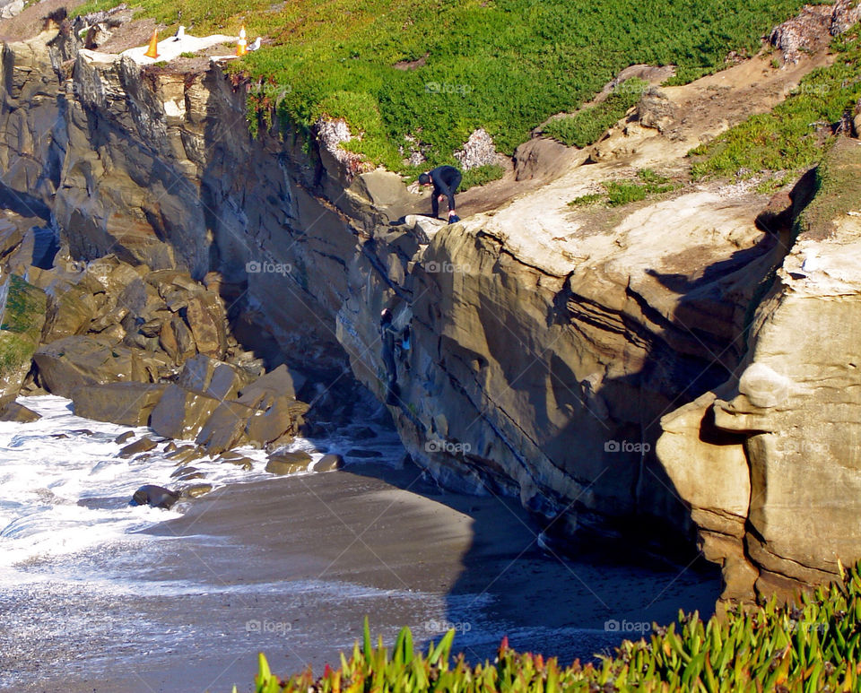
[[[817,171],[737,377],[661,421],[658,456],[725,598],[789,595],[861,558],[859,150],[843,139]]]

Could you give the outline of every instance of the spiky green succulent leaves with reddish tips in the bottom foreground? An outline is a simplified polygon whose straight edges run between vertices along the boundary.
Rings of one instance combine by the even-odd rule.
[[[726,619],[703,622],[680,612],[668,628],[654,627],[650,639],[624,641],[612,657],[597,664],[561,667],[556,659],[517,653],[503,639],[494,663],[451,661],[455,631],[427,654],[413,651],[406,628],[391,652],[379,638],[371,644],[365,620],[364,642],[341,666],[326,666],[315,680],[311,671],[288,680],[275,677],[260,655],[257,693],[557,693],[561,691],[813,691],[858,690],[861,685],[861,573],[844,572],[835,585],[821,587],[795,603],[773,600],[737,608]],[[235,691],[236,689],[234,689]]]

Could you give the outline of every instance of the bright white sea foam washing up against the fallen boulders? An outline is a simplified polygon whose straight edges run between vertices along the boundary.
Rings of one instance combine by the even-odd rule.
[[[0,422],[0,552],[4,556],[0,585],[38,580],[39,570],[28,567],[45,559],[103,550],[118,542],[170,541],[140,532],[178,517],[184,507],[182,503],[171,510],[129,506],[135,489],[143,484],[180,489],[195,483],[219,487],[272,478],[265,472],[265,451],[249,447],[237,452],[252,460],[251,470],[203,458],[189,464],[204,478],[179,482],[170,476],[177,471],[177,462],[164,452],[169,441],[151,429],[131,429],[135,436],[117,443],[117,436],[129,427],[74,416],[70,401],[62,397],[23,397],[19,402],[42,418],[30,423]],[[142,436],[152,437],[159,445],[146,455],[119,456],[123,446]],[[383,460],[394,462],[398,451],[403,454],[396,437],[381,437],[379,443],[383,449],[391,448]],[[326,441],[327,452],[345,454],[355,446],[349,437]],[[292,450],[309,452],[315,463],[323,455],[317,447],[303,438],[291,445]],[[69,564],[74,570],[69,561],[64,571]]]

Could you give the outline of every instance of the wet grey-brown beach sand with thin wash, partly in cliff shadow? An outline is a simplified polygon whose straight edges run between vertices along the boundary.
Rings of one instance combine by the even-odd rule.
[[[471,660],[508,635],[570,663],[718,596],[714,572],[561,560],[535,532],[514,501],[441,493],[414,467],[228,486],[143,552],[76,557],[109,566],[107,587],[0,598],[0,671],[28,691],[250,690],[258,651],[281,674],[322,671],[366,614],[389,645],[402,625],[424,646],[454,626]]]

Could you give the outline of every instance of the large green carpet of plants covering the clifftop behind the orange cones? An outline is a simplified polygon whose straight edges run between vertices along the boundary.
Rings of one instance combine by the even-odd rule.
[[[92,0],[78,9],[105,9]],[[307,129],[340,113],[363,133],[355,151],[404,168],[404,134],[427,145],[429,164],[451,155],[478,126],[501,152],[526,141],[547,117],[573,112],[633,63],[678,65],[685,81],[752,53],[802,0],[130,0],[197,35],[236,34],[244,23],[274,45],[234,69],[254,85],[249,105],[275,107]],[[396,69],[420,61],[415,69]],[[256,116],[252,115],[252,121]]]

